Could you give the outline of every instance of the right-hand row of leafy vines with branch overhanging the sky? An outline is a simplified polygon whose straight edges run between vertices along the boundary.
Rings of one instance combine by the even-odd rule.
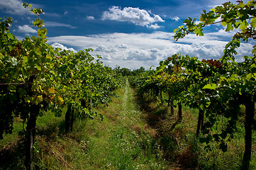
[[[130,83],[139,93],[157,96],[161,102],[167,102],[173,114],[173,102],[179,106],[178,118],[182,121],[182,104],[199,109],[196,133],[203,133],[200,141],[207,144],[218,142],[226,152],[228,142],[234,137],[238,117],[244,116],[245,152],[242,169],[249,169],[252,152],[252,130],[255,130],[256,101],[256,45],[252,47],[252,57],[244,56],[243,62],[235,62],[237,49],[241,41],[256,39],[256,2],[227,2],[216,6],[206,13],[203,11],[199,22],[188,18],[184,26],[174,30],[174,39],[184,38],[189,33],[203,36],[203,28],[222,23],[226,32],[237,29],[228,42],[219,60],[199,60],[198,57],[172,55],[160,62],[154,70],[132,77]],[[250,54],[248,54],[250,55]],[[169,96],[163,100],[162,92]],[[240,106],[245,106],[245,115]],[[227,124],[216,131],[220,118],[226,118]],[[206,122],[204,123],[204,120]]]

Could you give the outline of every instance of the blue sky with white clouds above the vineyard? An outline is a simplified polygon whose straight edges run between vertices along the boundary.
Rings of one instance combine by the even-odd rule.
[[[207,26],[203,37],[173,38],[173,30],[187,17],[199,21],[202,10],[209,11],[223,0],[0,0],[0,18],[13,18],[10,31],[19,40],[37,35],[32,23],[37,16],[23,8],[24,2],[45,11],[40,18],[50,45],[74,52],[92,48],[91,55],[101,55],[104,65],[113,68],[149,69],[177,53],[217,60],[235,34],[217,24]],[[251,55],[255,44],[243,43],[236,61]]]

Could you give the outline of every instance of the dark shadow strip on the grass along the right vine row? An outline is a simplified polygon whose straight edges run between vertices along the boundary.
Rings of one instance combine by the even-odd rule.
[[[171,115],[167,105],[157,105],[157,99],[145,94],[136,97],[137,103],[145,114],[144,120],[154,129],[156,145],[161,147],[163,156],[177,169],[196,169],[198,157],[195,154],[197,143],[194,139],[184,140],[187,137],[186,125]],[[183,142],[185,143],[183,144]],[[184,147],[184,146],[187,147]]]

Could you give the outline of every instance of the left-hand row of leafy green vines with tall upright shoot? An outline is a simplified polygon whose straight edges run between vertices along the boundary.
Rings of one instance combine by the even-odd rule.
[[[40,19],[43,10],[23,4],[38,16],[33,25],[38,36],[17,40],[9,32],[12,18],[0,18],[0,139],[13,130],[13,118],[26,124],[26,169],[33,168],[33,142],[36,120],[45,111],[56,116],[65,113],[66,132],[75,118],[93,118],[92,108],[108,103],[121,78],[104,67],[100,56],[88,50],[72,52],[55,49],[47,43],[47,29]]]

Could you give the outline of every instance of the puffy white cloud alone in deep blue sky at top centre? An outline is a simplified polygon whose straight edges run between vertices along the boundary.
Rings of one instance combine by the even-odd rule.
[[[112,6],[108,8],[108,11],[104,11],[101,19],[121,21],[121,22],[130,22],[134,23],[136,26],[146,26],[148,28],[157,29],[160,28],[157,24],[153,25],[152,23],[165,22],[158,15],[150,16],[148,11],[140,8],[126,7],[121,9],[118,6]]]

